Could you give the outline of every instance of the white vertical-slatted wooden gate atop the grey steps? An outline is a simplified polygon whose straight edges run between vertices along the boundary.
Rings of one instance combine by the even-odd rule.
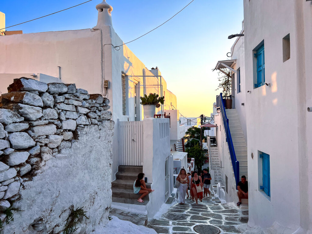
[[[143,121],[119,121],[119,165],[143,165]]]

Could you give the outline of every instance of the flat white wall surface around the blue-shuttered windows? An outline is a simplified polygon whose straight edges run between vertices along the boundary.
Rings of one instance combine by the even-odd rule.
[[[245,104],[251,226],[276,222],[289,233],[300,227],[298,233],[311,232],[311,11],[311,2],[304,0],[244,1],[244,88],[251,90]],[[290,59],[283,62],[282,38],[288,33]],[[253,89],[252,51],[262,40],[266,83],[271,85]],[[259,189],[258,150],[270,155],[270,198]]]

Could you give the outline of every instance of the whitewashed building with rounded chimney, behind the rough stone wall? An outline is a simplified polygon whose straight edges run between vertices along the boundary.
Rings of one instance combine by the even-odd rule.
[[[75,83],[89,93],[107,97],[115,121],[112,181],[118,176],[117,179],[125,177],[134,181],[137,173],[143,170],[147,182],[158,191],[149,195],[150,201],[142,209],[144,212],[148,210],[148,216],[152,217],[173,191],[170,150],[185,132],[185,128],[179,125],[178,110],[172,110],[172,106],[178,108],[177,98],[167,89],[157,67],[147,69],[123,45],[112,26],[113,8],[104,0],[96,5],[96,10],[98,22],[92,28],[0,37],[0,91],[7,92],[6,87],[13,78],[25,76],[47,83]],[[168,115],[170,112],[170,119],[142,121],[144,111],[139,97],[149,93],[165,96],[165,103],[156,114],[167,112]],[[131,176],[123,174],[124,168],[120,166],[132,167]],[[123,198],[133,200],[129,184],[125,186],[129,191],[122,194]],[[114,189],[113,186],[113,202],[118,187],[115,193]],[[119,199],[117,203],[120,202],[129,200]]]

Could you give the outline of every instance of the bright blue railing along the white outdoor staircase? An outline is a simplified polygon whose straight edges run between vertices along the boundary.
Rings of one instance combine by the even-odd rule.
[[[239,161],[236,159],[236,154],[233,146],[233,141],[232,141],[232,136],[231,136],[231,131],[229,127],[229,119],[227,118],[227,113],[225,112],[225,107],[224,107],[224,100],[222,98],[222,93],[220,95],[217,95],[217,110],[221,111],[222,114],[222,119],[223,119],[223,124],[224,124],[224,129],[225,133],[227,136],[227,145],[229,147],[230,155],[231,155],[231,161],[232,161],[232,166],[233,166],[233,171],[234,171],[234,176],[235,176],[235,181],[236,181],[236,187],[237,184],[240,180],[239,178]]]

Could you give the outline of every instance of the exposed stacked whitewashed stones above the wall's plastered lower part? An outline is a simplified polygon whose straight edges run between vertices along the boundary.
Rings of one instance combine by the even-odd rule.
[[[2,221],[2,212],[17,198],[23,182],[32,180],[51,158],[67,157],[64,150],[79,137],[77,128],[111,119],[108,104],[107,98],[88,94],[75,84],[46,84],[26,77],[13,80],[8,93],[0,96]]]

